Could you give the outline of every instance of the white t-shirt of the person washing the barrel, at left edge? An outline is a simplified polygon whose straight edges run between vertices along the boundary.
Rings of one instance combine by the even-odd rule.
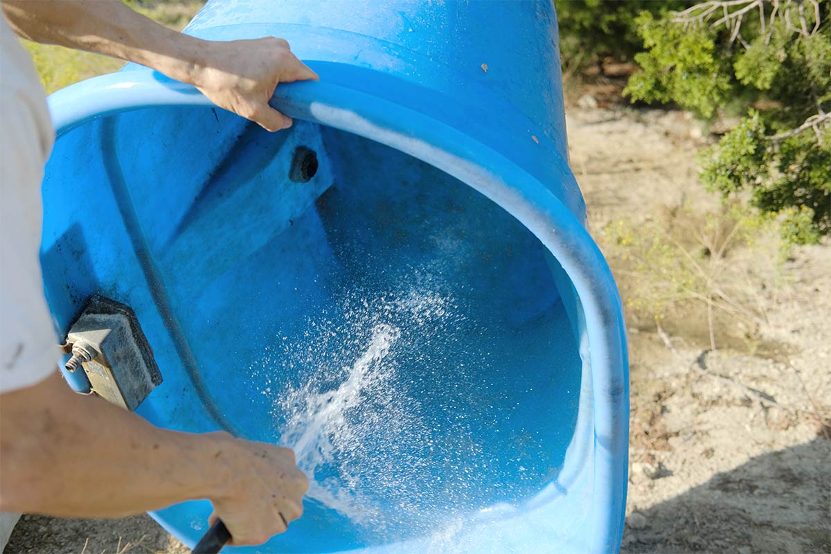
[[[0,15],[0,394],[52,375],[60,356],[39,259],[53,140],[32,59]]]

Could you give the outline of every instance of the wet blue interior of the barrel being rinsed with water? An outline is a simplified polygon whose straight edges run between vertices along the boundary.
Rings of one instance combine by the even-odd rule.
[[[140,414],[297,449],[312,488],[278,552],[429,535],[563,467],[574,292],[532,233],[430,164],[301,120],[271,134],[152,108],[63,135],[43,195],[58,331],[94,293],[133,307],[164,377]]]

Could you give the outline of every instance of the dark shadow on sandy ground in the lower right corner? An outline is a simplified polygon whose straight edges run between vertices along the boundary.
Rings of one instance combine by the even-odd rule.
[[[629,517],[621,552],[831,553],[829,468],[822,438],[751,458]]]

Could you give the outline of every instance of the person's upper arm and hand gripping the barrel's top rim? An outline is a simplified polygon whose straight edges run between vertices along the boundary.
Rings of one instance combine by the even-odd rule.
[[[214,104],[275,131],[292,120],[268,101],[281,82],[317,80],[282,38],[214,42],[189,37],[119,0],[0,0],[17,35],[151,67],[196,86]]]

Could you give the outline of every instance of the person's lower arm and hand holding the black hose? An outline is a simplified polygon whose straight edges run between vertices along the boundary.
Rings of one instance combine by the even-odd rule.
[[[289,449],[159,429],[57,372],[0,395],[0,453],[2,511],[123,517],[208,498],[234,544],[285,531],[308,488]]]

